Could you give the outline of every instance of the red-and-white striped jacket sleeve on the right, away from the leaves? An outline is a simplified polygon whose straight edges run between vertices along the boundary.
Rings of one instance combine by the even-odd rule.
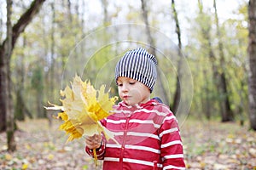
[[[159,135],[163,169],[185,169],[183,144],[177,119],[172,112],[165,117],[160,127]]]

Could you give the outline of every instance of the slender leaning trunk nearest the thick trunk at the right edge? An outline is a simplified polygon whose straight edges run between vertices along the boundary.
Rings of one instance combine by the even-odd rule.
[[[213,7],[215,10],[216,29],[217,29],[217,36],[218,36],[218,51],[219,51],[220,69],[221,69],[221,73],[218,79],[219,95],[221,96],[220,98],[221,116],[222,116],[222,122],[230,122],[230,121],[234,121],[234,114],[233,114],[233,111],[231,111],[230,99],[229,99],[228,88],[227,88],[228,86],[227,86],[226,76],[224,72],[224,48],[223,48],[224,45],[222,42],[221,32],[218,26],[218,13],[217,13],[215,0],[213,0]]]

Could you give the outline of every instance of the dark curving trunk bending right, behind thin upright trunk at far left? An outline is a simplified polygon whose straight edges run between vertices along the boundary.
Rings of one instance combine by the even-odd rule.
[[[17,21],[15,26],[12,27],[12,35],[11,35],[11,47],[10,53],[12,53],[13,49],[15,48],[15,42],[17,41],[18,37],[20,37],[20,33],[23,32],[26,26],[32,21],[32,18],[38,14],[39,8],[41,8],[42,4],[45,0],[34,0],[31,3],[30,8],[26,10],[24,14],[20,16],[20,19]],[[9,3],[9,1],[7,1]],[[6,130],[6,114],[7,114],[7,101],[9,100],[9,95],[6,94],[8,92],[8,68],[9,68],[9,61],[11,55],[8,56],[8,59],[5,59],[7,56],[5,55],[8,50],[8,38],[7,37],[0,46],[0,131]],[[10,74],[9,74],[10,75]]]

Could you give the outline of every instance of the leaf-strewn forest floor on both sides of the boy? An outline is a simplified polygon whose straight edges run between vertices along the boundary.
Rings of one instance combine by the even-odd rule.
[[[102,169],[84,153],[84,139],[66,144],[67,135],[58,130],[61,122],[26,120],[18,122],[17,150],[6,151],[6,134],[0,133],[0,169]],[[256,132],[236,122],[187,120],[180,126],[187,169],[256,170]]]

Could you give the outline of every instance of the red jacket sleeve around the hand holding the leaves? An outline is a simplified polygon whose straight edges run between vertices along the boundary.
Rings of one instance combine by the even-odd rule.
[[[102,126],[105,126],[106,120],[103,119],[103,120],[101,121],[101,123],[102,123]],[[97,149],[96,149],[96,156],[97,156],[97,159],[98,159],[98,160],[103,160],[103,159],[104,159],[105,148],[106,148],[106,139],[105,139],[104,135],[102,135],[102,144],[101,144],[100,148],[97,148]],[[85,146],[85,152],[86,152],[89,156],[94,157],[93,150],[90,150],[87,146]]]

